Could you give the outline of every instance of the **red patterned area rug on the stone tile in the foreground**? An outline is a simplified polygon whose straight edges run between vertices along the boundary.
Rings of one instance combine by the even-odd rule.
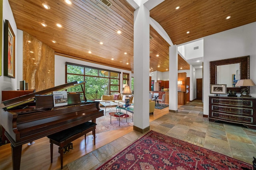
[[[97,170],[252,170],[234,158],[150,131]]]

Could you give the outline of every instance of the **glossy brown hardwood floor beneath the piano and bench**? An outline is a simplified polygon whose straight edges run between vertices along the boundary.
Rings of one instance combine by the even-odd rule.
[[[150,115],[150,121],[153,121],[162,115],[168,113],[168,107],[164,109],[155,109],[154,114]],[[93,145],[92,135],[86,137],[86,146],[84,137],[73,141],[74,150],[64,154],[64,170],[68,169],[67,164],[96,150],[120,137],[133,131],[133,127],[125,127],[114,131],[107,131],[96,134],[96,145]],[[50,162],[50,143],[47,137],[35,141],[34,145],[22,146],[21,170],[56,170],[60,169],[60,154],[58,146],[54,145],[53,163]],[[0,147],[0,170],[12,170],[12,152],[10,143]]]

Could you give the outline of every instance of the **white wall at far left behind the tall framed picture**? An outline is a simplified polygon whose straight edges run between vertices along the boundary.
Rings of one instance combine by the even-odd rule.
[[[15,41],[15,77],[16,78],[10,78],[7,76],[4,76],[4,25],[5,20],[8,20],[12,31],[14,32],[14,35],[16,36]],[[2,91],[3,90],[17,90],[17,42],[18,42],[18,36],[17,36],[17,26],[14,20],[14,17],[12,15],[12,10],[10,8],[8,0],[3,0],[3,28],[2,28],[2,76],[0,76],[0,101],[2,101]]]

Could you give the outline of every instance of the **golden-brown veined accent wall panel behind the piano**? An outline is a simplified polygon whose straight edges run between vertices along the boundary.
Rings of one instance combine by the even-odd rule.
[[[54,50],[23,31],[23,80],[36,92],[54,87]]]

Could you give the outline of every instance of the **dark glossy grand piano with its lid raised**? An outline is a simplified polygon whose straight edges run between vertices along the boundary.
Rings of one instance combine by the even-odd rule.
[[[96,118],[104,115],[99,102],[94,101],[71,100],[66,106],[53,107],[53,91],[64,91],[84,83],[75,81],[2,102],[0,124],[11,143],[14,170],[20,169],[23,144],[86,121],[96,123]]]

